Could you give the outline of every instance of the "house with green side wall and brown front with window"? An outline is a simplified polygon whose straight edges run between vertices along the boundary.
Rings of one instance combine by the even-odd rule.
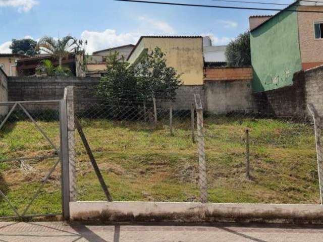
[[[321,7],[296,1],[274,16],[249,18],[254,92],[292,85],[295,72],[323,64],[323,13],[315,11]]]

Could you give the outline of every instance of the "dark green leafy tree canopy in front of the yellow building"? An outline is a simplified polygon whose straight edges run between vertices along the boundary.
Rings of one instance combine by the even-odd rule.
[[[142,102],[152,97],[175,99],[181,84],[180,75],[166,64],[165,53],[155,48],[137,65],[129,65],[118,52],[106,59],[106,72],[101,77],[97,94],[108,102]]]

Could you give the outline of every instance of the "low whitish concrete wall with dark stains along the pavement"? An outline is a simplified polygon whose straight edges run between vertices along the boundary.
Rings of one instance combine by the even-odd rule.
[[[71,202],[71,220],[322,223],[323,206],[176,202]]]

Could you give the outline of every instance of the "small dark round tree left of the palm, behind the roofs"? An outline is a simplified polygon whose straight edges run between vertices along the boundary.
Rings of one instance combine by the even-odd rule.
[[[33,39],[13,39],[9,48],[13,54],[34,56],[39,54],[39,51],[35,49],[36,44],[37,42]]]

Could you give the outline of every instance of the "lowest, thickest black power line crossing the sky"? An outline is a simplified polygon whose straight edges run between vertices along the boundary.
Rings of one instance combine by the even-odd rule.
[[[138,1],[138,0],[114,0],[120,2],[131,3],[143,3],[143,4],[161,4],[161,5],[173,5],[173,6],[187,6],[187,7],[203,7],[203,8],[219,8],[219,9],[243,9],[243,10],[263,10],[263,11],[282,11],[283,9],[265,9],[265,8],[246,8],[246,7],[229,7],[229,6],[216,6],[216,5],[199,5],[199,4],[179,4],[169,2],[152,2],[152,1]],[[303,13],[323,13],[323,11],[311,11],[311,10],[291,10],[284,9],[287,12],[303,12]]]

